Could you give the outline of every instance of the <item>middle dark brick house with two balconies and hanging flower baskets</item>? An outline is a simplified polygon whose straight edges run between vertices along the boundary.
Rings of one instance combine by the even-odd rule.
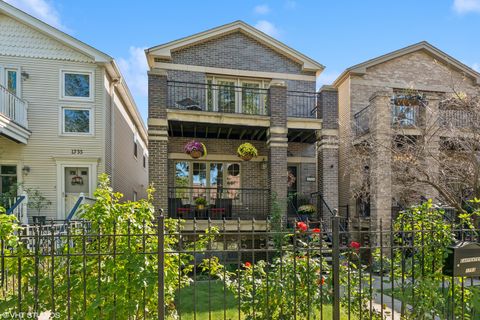
[[[321,64],[242,21],[146,55],[156,208],[187,219],[265,220],[275,194],[293,218],[301,202],[326,210],[317,191],[338,205],[336,89],[316,93]],[[207,155],[186,154],[191,140]],[[237,156],[244,142],[257,148],[256,158]],[[198,197],[205,209],[194,208]]]

